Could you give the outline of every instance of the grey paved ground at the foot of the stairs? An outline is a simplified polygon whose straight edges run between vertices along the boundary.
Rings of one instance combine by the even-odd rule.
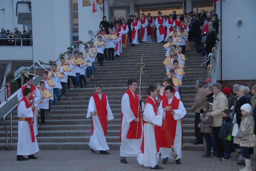
[[[237,151],[240,151],[237,149]],[[255,149],[254,149],[255,151]],[[96,153],[90,150],[41,150],[35,156],[38,159],[16,161],[16,150],[0,151],[0,171],[141,171],[151,170],[150,167],[139,165],[136,157],[127,157],[128,164],[120,163],[120,151],[110,150],[110,155]],[[255,151],[256,152],[256,151]],[[231,154],[231,160],[219,161],[219,158],[202,158],[203,151],[182,151],[181,165],[176,165],[169,159],[167,164],[162,164],[159,158],[158,164],[164,170],[170,171],[238,171],[244,166],[238,166],[234,157],[237,152]],[[27,156],[25,156],[27,157]],[[256,168],[256,154],[251,155],[252,169]]]

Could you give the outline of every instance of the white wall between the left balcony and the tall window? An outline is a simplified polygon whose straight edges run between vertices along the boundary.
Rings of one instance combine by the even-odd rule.
[[[34,62],[55,61],[70,46],[69,0],[31,0]]]

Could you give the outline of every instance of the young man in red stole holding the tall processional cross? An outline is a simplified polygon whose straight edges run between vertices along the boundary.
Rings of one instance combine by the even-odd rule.
[[[137,89],[137,81],[129,79],[127,83],[129,88],[123,95],[121,103],[120,130],[120,140],[122,140],[120,145],[120,162],[124,164],[128,163],[126,157],[138,157],[138,154],[140,153],[143,131],[141,111],[143,111],[144,108],[142,97],[135,93]]]

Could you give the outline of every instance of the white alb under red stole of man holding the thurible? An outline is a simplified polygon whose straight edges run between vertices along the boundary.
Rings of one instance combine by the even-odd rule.
[[[172,103],[172,99],[173,98],[170,98],[168,99],[168,104],[171,104]],[[158,108],[158,111],[161,115],[164,115],[165,116],[165,112],[163,111],[163,108],[162,108],[162,102],[160,103],[159,105],[159,108]],[[181,122],[179,121],[179,119],[182,119],[184,118],[184,116],[186,115],[186,109],[184,108],[183,106],[183,103],[180,101],[179,103],[179,107],[178,109],[174,110],[175,111],[175,114],[173,115],[173,118],[174,120],[177,121],[177,124],[176,124],[176,133],[175,133],[175,137],[172,137],[174,139],[174,143],[173,143],[173,146],[174,146],[174,149],[175,151],[177,152],[177,159],[180,159],[182,158],[182,155],[181,155],[181,146],[182,146],[182,125],[181,125]],[[160,140],[161,141],[161,140]],[[174,159],[172,156],[171,156],[171,152],[172,152],[172,149],[171,148],[166,148],[166,147],[161,147],[160,149],[160,152],[161,152],[161,158],[166,158],[166,157],[169,157],[169,158],[172,158]]]

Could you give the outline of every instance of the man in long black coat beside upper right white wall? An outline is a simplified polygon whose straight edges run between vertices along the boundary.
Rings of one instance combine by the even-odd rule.
[[[206,36],[207,37],[206,37],[204,46],[208,56],[209,53],[212,52],[212,48],[215,46],[215,43],[216,43],[216,32],[213,30],[213,27],[211,25],[208,26],[208,32]]]

